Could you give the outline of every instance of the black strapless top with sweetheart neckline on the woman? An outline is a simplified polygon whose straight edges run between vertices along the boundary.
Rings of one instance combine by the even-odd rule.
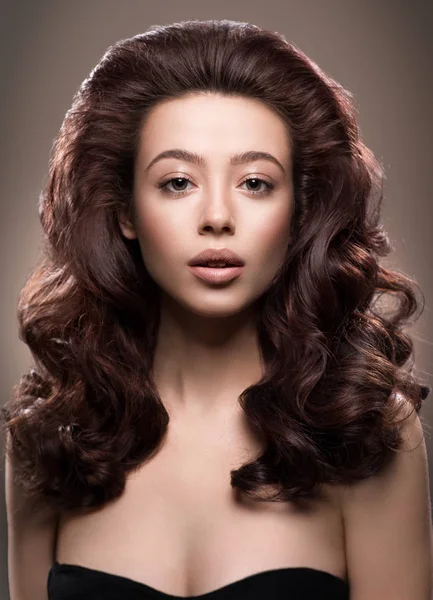
[[[48,575],[49,600],[349,600],[349,583],[311,567],[248,575],[199,596],[174,596],[127,577],[57,561]]]

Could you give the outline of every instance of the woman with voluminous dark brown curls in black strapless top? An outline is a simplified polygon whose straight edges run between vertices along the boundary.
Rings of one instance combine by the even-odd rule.
[[[379,264],[354,112],[227,20],[121,40],[84,81],[3,411],[12,600],[427,600],[420,302]]]

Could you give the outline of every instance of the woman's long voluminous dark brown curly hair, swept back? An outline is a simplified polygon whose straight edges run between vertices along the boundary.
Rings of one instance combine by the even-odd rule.
[[[160,289],[119,215],[131,210],[147,114],[191,92],[260,100],[292,145],[292,242],[258,301],[264,374],[238,398],[263,451],[230,472],[231,485],[301,506],[325,484],[370,477],[430,391],[413,363],[404,368],[413,343],[403,327],[425,300],[379,264],[392,249],[385,174],[360,139],[352,94],[277,32],[230,20],[153,26],[110,46],[81,84],[39,198],[43,252],[18,301],[35,364],[2,409],[15,477],[35,503],[71,510],[119,497],[166,434],[152,379]]]

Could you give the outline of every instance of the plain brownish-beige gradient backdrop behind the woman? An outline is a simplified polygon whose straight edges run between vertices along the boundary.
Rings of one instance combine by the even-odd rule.
[[[16,303],[41,247],[38,195],[73,94],[114,42],[153,24],[210,18],[279,31],[354,94],[363,139],[387,174],[383,219],[395,251],[384,264],[415,278],[425,294],[426,308],[410,332],[415,373],[433,386],[432,12],[431,0],[0,0],[0,403],[31,364],[18,339]],[[433,392],[421,415],[431,427]],[[426,438],[432,480],[433,433]],[[0,468],[0,600],[6,600]]]

